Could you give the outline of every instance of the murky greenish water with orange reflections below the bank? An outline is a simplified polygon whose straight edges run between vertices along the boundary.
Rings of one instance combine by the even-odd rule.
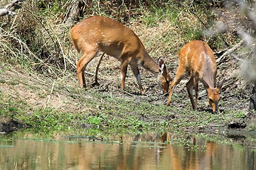
[[[0,169],[256,169],[254,146],[190,136],[172,140],[175,137],[169,134],[124,135],[108,142],[0,136]]]

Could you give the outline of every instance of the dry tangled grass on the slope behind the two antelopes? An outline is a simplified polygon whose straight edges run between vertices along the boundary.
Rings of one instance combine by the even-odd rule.
[[[49,13],[50,9],[48,8],[44,11],[39,10],[35,1],[24,1],[23,8],[18,11],[14,18],[11,18],[9,23],[7,17],[1,18],[0,63],[2,68],[12,70],[18,67],[31,74],[40,74],[42,77],[40,76],[38,79],[41,79],[43,84],[48,84],[50,89],[56,87],[63,79],[66,80],[63,84],[72,83],[73,86],[76,86],[78,79],[75,64],[80,55],[78,55],[78,52],[75,51],[70,42],[69,31],[72,24],[64,23],[70,9],[67,3],[63,4],[62,7],[67,11]],[[99,5],[97,10],[104,4]],[[164,57],[166,65],[171,72],[171,79],[174,77],[178,64],[178,57],[176,56],[178,50],[186,42],[202,38],[203,35],[201,33],[206,28],[206,23],[212,22],[210,20],[213,19],[210,18],[212,16],[207,16],[208,13],[200,12],[200,10],[195,13],[194,8],[196,7],[191,6],[191,4],[188,4],[188,6],[186,4],[182,5],[180,8],[176,6],[175,10],[179,11],[174,15],[172,11],[168,11],[171,10],[170,8],[166,8],[165,13],[161,13],[158,16],[150,13],[150,6],[149,8],[146,6],[144,6],[145,8],[134,8],[133,10],[122,6],[122,8],[119,8],[120,15],[115,13],[111,16],[111,18],[122,21],[125,26],[134,30],[134,33],[142,40],[149,51],[149,55],[154,60],[157,60],[159,56]],[[106,6],[110,7],[110,4]],[[102,8],[102,11],[94,11],[93,14],[104,13],[106,6]],[[110,10],[110,13],[114,13],[114,11]],[[110,13],[106,12],[104,15]],[[87,9],[87,15],[90,14],[92,14],[92,9]],[[126,16],[129,17],[126,18]],[[144,21],[146,16],[156,17],[157,22],[152,25],[146,25]],[[206,37],[205,41],[218,43],[219,41],[215,41],[216,38],[218,39],[218,36]],[[210,46],[212,45],[210,44]],[[221,43],[219,43],[218,47],[221,46]],[[213,50],[216,50],[217,48],[214,49],[214,47],[216,46],[213,45]],[[94,81],[95,67],[98,60],[99,57],[95,57],[87,65],[87,84],[91,84]],[[222,67],[225,69],[227,66],[224,65]],[[235,69],[237,69],[236,66]],[[154,86],[154,91],[157,91],[156,81],[153,79],[152,74],[144,69],[141,72],[143,86],[146,86],[146,88]],[[110,83],[110,91],[111,89],[119,89],[119,75],[119,62],[113,57],[105,56],[100,65],[100,83]],[[232,79],[232,76],[229,74],[229,79]],[[233,77],[236,77],[236,75]],[[53,84],[53,81],[55,84]],[[130,70],[127,74],[126,86],[128,91],[134,86],[137,88],[137,83]],[[136,92],[137,90],[138,88],[131,91]]]

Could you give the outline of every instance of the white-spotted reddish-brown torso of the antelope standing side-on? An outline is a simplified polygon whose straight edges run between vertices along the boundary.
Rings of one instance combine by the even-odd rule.
[[[144,45],[132,30],[107,17],[86,18],[73,26],[70,35],[75,47],[82,53],[90,51],[90,47],[98,48],[120,60],[125,52],[143,53],[145,50]]]

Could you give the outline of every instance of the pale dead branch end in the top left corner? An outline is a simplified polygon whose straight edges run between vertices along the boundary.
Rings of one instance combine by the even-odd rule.
[[[4,8],[0,8],[0,16],[14,16],[16,9],[21,8],[23,0],[13,0],[10,4],[7,4]]]

